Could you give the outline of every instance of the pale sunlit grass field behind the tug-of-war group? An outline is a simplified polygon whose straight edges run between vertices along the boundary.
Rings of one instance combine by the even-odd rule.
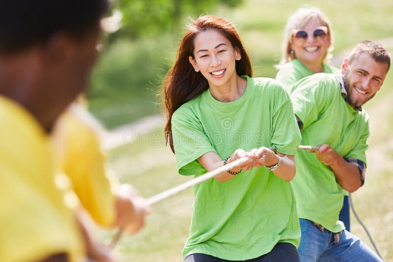
[[[311,1],[306,2],[311,3]],[[317,0],[312,1],[312,4],[321,8],[333,23],[336,37],[335,55],[364,39],[393,36],[393,1],[391,0],[349,0],[340,2],[340,5],[337,2]],[[219,12],[211,10],[209,13],[220,14],[237,24],[243,42],[253,59],[256,75],[274,77],[276,71],[273,64],[280,59],[282,28],[287,17],[299,6],[301,6],[299,1],[246,0],[242,6],[234,10],[220,9]],[[168,57],[163,57],[162,63],[168,63],[168,59],[173,57],[175,47],[173,42],[168,43],[168,47],[164,48],[164,53],[167,53]],[[131,75],[133,73],[129,72]],[[355,208],[386,261],[393,261],[392,86],[393,72],[391,71],[382,90],[365,105],[370,116],[371,133],[370,149],[367,151],[368,167],[365,185],[353,194]],[[157,112],[155,109],[157,107],[152,104],[154,99],[146,99],[142,102],[137,106],[129,106],[136,108],[134,110]],[[125,104],[126,110],[121,109],[122,103]],[[132,103],[127,102],[125,98],[122,103],[113,106],[113,111],[119,110],[116,114],[128,113],[127,108],[130,107],[127,103]],[[103,102],[102,105],[109,106],[107,102]],[[145,109],[146,107],[148,109]],[[112,108],[102,109],[97,106],[95,110],[105,114],[106,110]],[[140,116],[138,112],[135,117],[137,116]],[[110,118],[113,118],[113,115]],[[155,132],[160,135],[144,134],[141,135],[140,142],[109,152],[108,165],[117,172],[121,182],[132,183],[145,197],[190,179],[177,174],[175,158],[170,149],[165,147],[162,129]],[[143,230],[135,236],[123,236],[117,245],[116,250],[121,254],[122,261],[182,261],[181,250],[188,237],[192,202],[193,194],[189,189],[153,206]],[[353,216],[351,216],[351,223],[352,232],[369,244],[367,236]],[[113,232],[99,231],[99,234],[105,242],[109,243]]]

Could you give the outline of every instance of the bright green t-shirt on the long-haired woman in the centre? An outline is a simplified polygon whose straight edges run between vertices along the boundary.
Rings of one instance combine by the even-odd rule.
[[[206,90],[175,111],[171,124],[180,174],[205,173],[196,159],[207,152],[225,159],[239,148],[274,145],[282,154],[295,154],[301,137],[288,94],[274,79],[244,78],[246,90],[236,101],[219,102]],[[247,260],[269,253],[278,242],[299,245],[292,187],[264,167],[224,183],[207,180],[194,187],[194,195],[184,257]]]

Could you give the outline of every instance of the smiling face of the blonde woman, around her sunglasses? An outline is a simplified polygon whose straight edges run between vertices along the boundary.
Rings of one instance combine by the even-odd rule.
[[[297,28],[292,34],[291,49],[294,51],[295,57],[304,65],[321,66],[330,46],[330,34],[327,32],[325,36],[314,36],[314,31],[324,29],[318,19],[311,19],[303,28]],[[296,32],[304,30],[307,37],[296,37]]]

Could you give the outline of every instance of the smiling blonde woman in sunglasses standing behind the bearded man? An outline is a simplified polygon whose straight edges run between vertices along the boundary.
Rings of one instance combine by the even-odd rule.
[[[299,8],[285,26],[276,80],[290,92],[295,82],[315,73],[338,74],[337,68],[328,65],[333,43],[332,25],[326,15],[315,7]]]

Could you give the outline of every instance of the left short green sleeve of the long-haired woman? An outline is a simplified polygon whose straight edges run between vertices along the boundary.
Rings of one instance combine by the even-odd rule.
[[[216,152],[216,150],[193,110],[187,104],[178,108],[172,115],[171,126],[179,174],[205,173],[206,169],[197,161],[197,158],[207,152]]]

